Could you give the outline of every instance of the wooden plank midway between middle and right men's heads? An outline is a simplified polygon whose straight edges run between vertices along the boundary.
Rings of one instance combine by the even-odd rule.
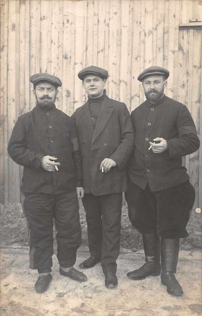
[[[129,1],[121,1],[120,100],[127,104]]]

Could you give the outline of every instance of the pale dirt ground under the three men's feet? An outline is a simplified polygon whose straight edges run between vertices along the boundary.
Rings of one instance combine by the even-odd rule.
[[[88,258],[88,248],[78,250],[78,264]],[[160,276],[130,280],[126,273],[144,262],[142,250],[121,249],[117,260],[118,287],[107,289],[101,265],[83,270],[88,279],[78,283],[59,274],[56,251],[53,280],[38,294],[38,274],[29,269],[29,248],[14,245],[1,250],[0,316],[192,316],[201,314],[201,253],[199,249],[180,252],[176,277],[184,290],[182,297],[167,293]],[[78,268],[79,269],[79,268]],[[79,269],[80,270],[80,269]]]

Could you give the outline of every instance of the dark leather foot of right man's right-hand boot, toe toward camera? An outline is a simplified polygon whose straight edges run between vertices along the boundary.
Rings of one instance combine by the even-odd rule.
[[[175,296],[182,296],[183,291],[180,283],[171,272],[161,274],[161,283],[167,285],[167,292]]]

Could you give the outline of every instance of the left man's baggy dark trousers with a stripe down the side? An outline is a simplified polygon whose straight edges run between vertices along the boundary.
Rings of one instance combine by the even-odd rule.
[[[57,230],[57,258],[61,267],[71,267],[81,244],[76,191],[58,195],[25,193],[24,213],[28,223],[30,268],[51,272],[53,265],[53,218]]]

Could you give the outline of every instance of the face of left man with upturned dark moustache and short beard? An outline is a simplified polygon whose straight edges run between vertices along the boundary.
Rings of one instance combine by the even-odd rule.
[[[33,90],[37,103],[43,107],[51,106],[55,103],[58,90],[48,81],[39,82]]]

